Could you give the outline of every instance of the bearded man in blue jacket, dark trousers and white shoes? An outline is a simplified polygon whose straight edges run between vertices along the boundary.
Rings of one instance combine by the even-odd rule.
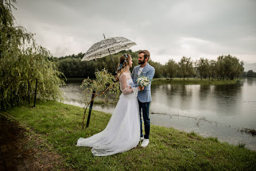
[[[151,102],[151,90],[150,85],[151,81],[154,77],[154,67],[149,65],[150,53],[148,50],[141,50],[138,53],[138,63],[139,65],[133,68],[133,72],[131,73],[131,78],[133,82],[137,84],[138,76],[146,76],[149,77],[150,84],[144,88],[143,91],[138,92],[138,102],[139,102],[139,117],[141,120],[141,143],[142,147],[146,147],[149,144],[149,131],[150,131],[150,119],[149,119],[149,104]],[[141,119],[141,110],[144,121],[145,135],[143,137],[142,134],[142,119]]]

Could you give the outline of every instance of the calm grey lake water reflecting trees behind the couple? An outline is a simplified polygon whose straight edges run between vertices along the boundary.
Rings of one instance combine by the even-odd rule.
[[[64,103],[84,107],[81,80],[68,80],[61,90]],[[115,106],[94,104],[93,109],[112,113]],[[83,114],[81,114],[82,116]],[[227,85],[152,85],[150,123],[203,137],[217,137],[234,145],[246,143],[256,150],[256,79]]]

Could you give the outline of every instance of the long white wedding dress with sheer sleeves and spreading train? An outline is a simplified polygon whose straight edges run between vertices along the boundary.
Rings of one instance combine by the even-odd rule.
[[[102,132],[88,138],[79,138],[76,146],[92,147],[94,156],[110,156],[136,147],[140,137],[138,87],[134,87],[130,73],[119,77],[122,94],[115,110]],[[131,88],[129,87],[131,86]]]

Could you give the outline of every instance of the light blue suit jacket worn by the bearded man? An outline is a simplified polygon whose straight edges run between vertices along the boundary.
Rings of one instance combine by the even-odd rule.
[[[137,77],[138,77],[139,67],[141,67],[141,65],[137,65],[136,67],[134,67],[133,72],[131,73],[131,78],[133,79],[133,82],[136,85],[136,87],[138,86]],[[145,67],[142,69],[141,76],[149,77],[149,79],[152,80],[154,77],[154,67],[149,65],[149,63],[146,64]],[[152,101],[152,99],[151,99],[151,81],[147,87],[144,87],[143,91],[138,92],[138,100],[142,103]]]

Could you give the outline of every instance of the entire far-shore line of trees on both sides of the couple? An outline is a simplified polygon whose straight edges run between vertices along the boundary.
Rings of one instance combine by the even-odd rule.
[[[112,55],[115,66],[119,63],[119,57],[124,53],[129,53],[133,59],[133,67],[138,65],[138,51],[123,50]],[[81,61],[83,53],[72,56],[55,57],[56,65],[59,71],[63,72],[66,77],[91,77],[97,70],[106,68],[108,72],[115,73],[110,56],[92,61]],[[183,79],[189,77],[199,77],[200,79],[230,79],[233,80],[242,76],[244,72],[243,61],[239,61],[235,56],[225,55],[219,56],[217,60],[208,60],[200,58],[193,61],[191,57],[183,56],[178,63],[170,59],[167,63],[160,64],[149,60],[156,72],[154,77],[181,77]],[[132,71],[133,68],[131,68]]]

